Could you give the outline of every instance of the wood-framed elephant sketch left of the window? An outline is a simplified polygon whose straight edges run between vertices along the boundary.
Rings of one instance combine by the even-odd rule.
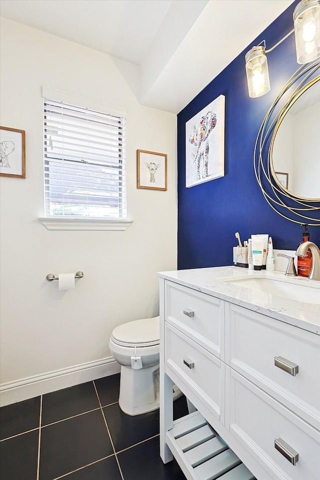
[[[25,178],[25,131],[0,126],[0,176]]]

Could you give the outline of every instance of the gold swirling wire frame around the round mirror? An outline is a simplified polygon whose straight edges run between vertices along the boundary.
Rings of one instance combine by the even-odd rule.
[[[287,111],[317,81],[320,81],[320,60],[302,65],[288,79],[261,123],[253,157],[256,180],[270,207],[291,222],[313,226],[320,226],[320,198],[300,197],[279,182],[272,163],[272,148],[276,132]],[[320,183],[320,178],[315,178],[314,181]]]

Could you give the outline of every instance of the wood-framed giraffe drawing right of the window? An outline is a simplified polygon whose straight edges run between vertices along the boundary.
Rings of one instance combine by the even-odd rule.
[[[166,153],[136,151],[136,186],[148,190],[167,189]]]

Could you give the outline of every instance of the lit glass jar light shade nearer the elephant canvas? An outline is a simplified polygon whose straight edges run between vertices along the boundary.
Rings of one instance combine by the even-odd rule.
[[[268,62],[263,46],[254,46],[247,52],[245,71],[249,97],[260,97],[270,90]]]

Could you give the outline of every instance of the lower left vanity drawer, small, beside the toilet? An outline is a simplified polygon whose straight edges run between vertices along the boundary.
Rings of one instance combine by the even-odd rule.
[[[221,373],[220,360],[166,322],[165,363],[223,422],[224,369]]]

